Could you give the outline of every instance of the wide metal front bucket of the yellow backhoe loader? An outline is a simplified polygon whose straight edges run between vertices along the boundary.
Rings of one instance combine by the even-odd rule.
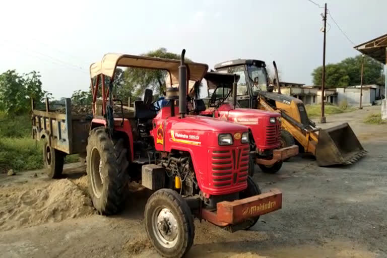
[[[348,123],[318,131],[315,153],[318,166],[349,165],[365,153]]]

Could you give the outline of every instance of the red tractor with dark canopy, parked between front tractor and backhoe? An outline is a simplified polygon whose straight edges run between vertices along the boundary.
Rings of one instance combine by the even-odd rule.
[[[202,115],[232,121],[248,127],[250,143],[249,175],[254,163],[265,173],[276,173],[282,162],[298,154],[298,146],[283,146],[281,142],[281,114],[259,109],[237,107],[238,75],[208,72],[208,104]]]

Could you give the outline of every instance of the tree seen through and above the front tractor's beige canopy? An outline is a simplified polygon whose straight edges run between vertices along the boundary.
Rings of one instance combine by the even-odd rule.
[[[168,59],[180,59],[180,54],[168,52],[167,49],[163,47],[149,51],[142,55]],[[185,58],[185,60],[189,61],[188,58]],[[166,75],[167,72],[164,70],[127,68],[124,71],[124,84],[121,92],[127,94],[125,98],[137,97],[141,96],[145,89],[150,88],[161,95],[166,89]]]

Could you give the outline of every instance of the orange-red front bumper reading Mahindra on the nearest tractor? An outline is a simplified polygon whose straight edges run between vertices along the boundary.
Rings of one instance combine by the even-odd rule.
[[[224,227],[279,210],[281,207],[282,192],[274,188],[261,195],[233,202],[220,202],[216,211],[202,209],[201,214],[203,219]]]

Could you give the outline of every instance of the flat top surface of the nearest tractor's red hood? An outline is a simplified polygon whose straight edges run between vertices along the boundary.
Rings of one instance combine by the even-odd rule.
[[[187,115],[184,118],[177,116],[168,118],[173,122],[175,130],[195,130],[195,131],[212,131],[212,132],[247,132],[244,125],[233,122],[222,121],[212,117]]]

